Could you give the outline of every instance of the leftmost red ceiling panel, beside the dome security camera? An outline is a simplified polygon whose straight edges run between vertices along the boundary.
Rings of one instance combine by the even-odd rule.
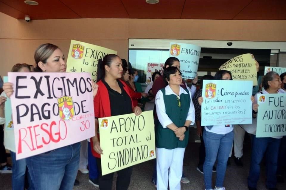
[[[80,18],[71,9],[58,0],[36,0],[39,5],[27,5],[24,0],[0,0],[4,4],[17,9],[32,19]],[[22,18],[24,19],[24,17]]]

